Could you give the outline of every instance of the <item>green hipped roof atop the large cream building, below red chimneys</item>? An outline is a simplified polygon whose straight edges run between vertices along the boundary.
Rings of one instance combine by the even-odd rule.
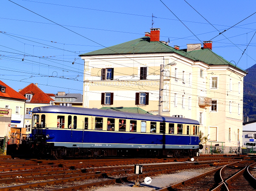
[[[103,48],[99,50],[94,50],[80,56],[90,56],[90,55],[108,55],[108,54],[136,54],[136,53],[169,53],[175,52],[184,56],[186,58],[192,59],[194,61],[203,61],[209,65],[231,65],[236,67],[234,64],[225,60],[222,56],[217,55],[211,49],[199,49],[187,52],[187,49],[177,50],[173,47],[168,46],[165,43],[159,41],[150,42],[149,36],[144,36],[132,41],[124,42],[111,46],[108,48]],[[238,68],[238,67],[237,67]],[[241,68],[238,68],[242,70]],[[244,70],[242,70],[244,71]]]

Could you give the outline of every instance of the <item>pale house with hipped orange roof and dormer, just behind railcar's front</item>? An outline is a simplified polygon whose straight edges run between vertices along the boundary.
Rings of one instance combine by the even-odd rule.
[[[31,111],[34,107],[53,105],[54,100],[43,92],[37,84],[29,84],[25,88],[19,90],[19,93],[27,98],[25,104],[25,123],[24,127],[26,132],[31,132],[32,127],[32,114]],[[54,95],[54,94],[53,94]]]

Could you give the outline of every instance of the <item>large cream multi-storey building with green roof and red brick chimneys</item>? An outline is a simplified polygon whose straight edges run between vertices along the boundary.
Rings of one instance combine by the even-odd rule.
[[[226,152],[242,146],[246,72],[215,54],[211,41],[179,49],[159,41],[159,33],[151,29],[145,37],[80,55],[83,107],[139,107],[158,114],[163,64],[163,115],[198,120],[212,141],[207,145],[223,144]]]

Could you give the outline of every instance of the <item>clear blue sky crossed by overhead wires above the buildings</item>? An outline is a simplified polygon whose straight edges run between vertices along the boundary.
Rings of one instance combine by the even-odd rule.
[[[46,93],[82,94],[83,60],[78,55],[144,36],[152,13],[153,28],[161,28],[160,40],[169,39],[170,46],[212,40],[213,51],[238,67],[256,64],[256,14],[250,16],[256,12],[254,0],[162,0],[170,10],[160,0],[13,2],[1,1],[0,80],[16,91],[38,83]]]

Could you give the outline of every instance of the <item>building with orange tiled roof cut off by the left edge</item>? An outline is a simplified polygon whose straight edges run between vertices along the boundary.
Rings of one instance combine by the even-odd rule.
[[[11,113],[11,121],[6,126],[0,125],[0,139],[4,136],[13,138],[10,143],[19,143],[24,129],[25,101],[26,97],[12,89],[0,80],[0,122],[6,121]],[[8,111],[8,112],[7,112]],[[13,142],[14,141],[14,142]]]

